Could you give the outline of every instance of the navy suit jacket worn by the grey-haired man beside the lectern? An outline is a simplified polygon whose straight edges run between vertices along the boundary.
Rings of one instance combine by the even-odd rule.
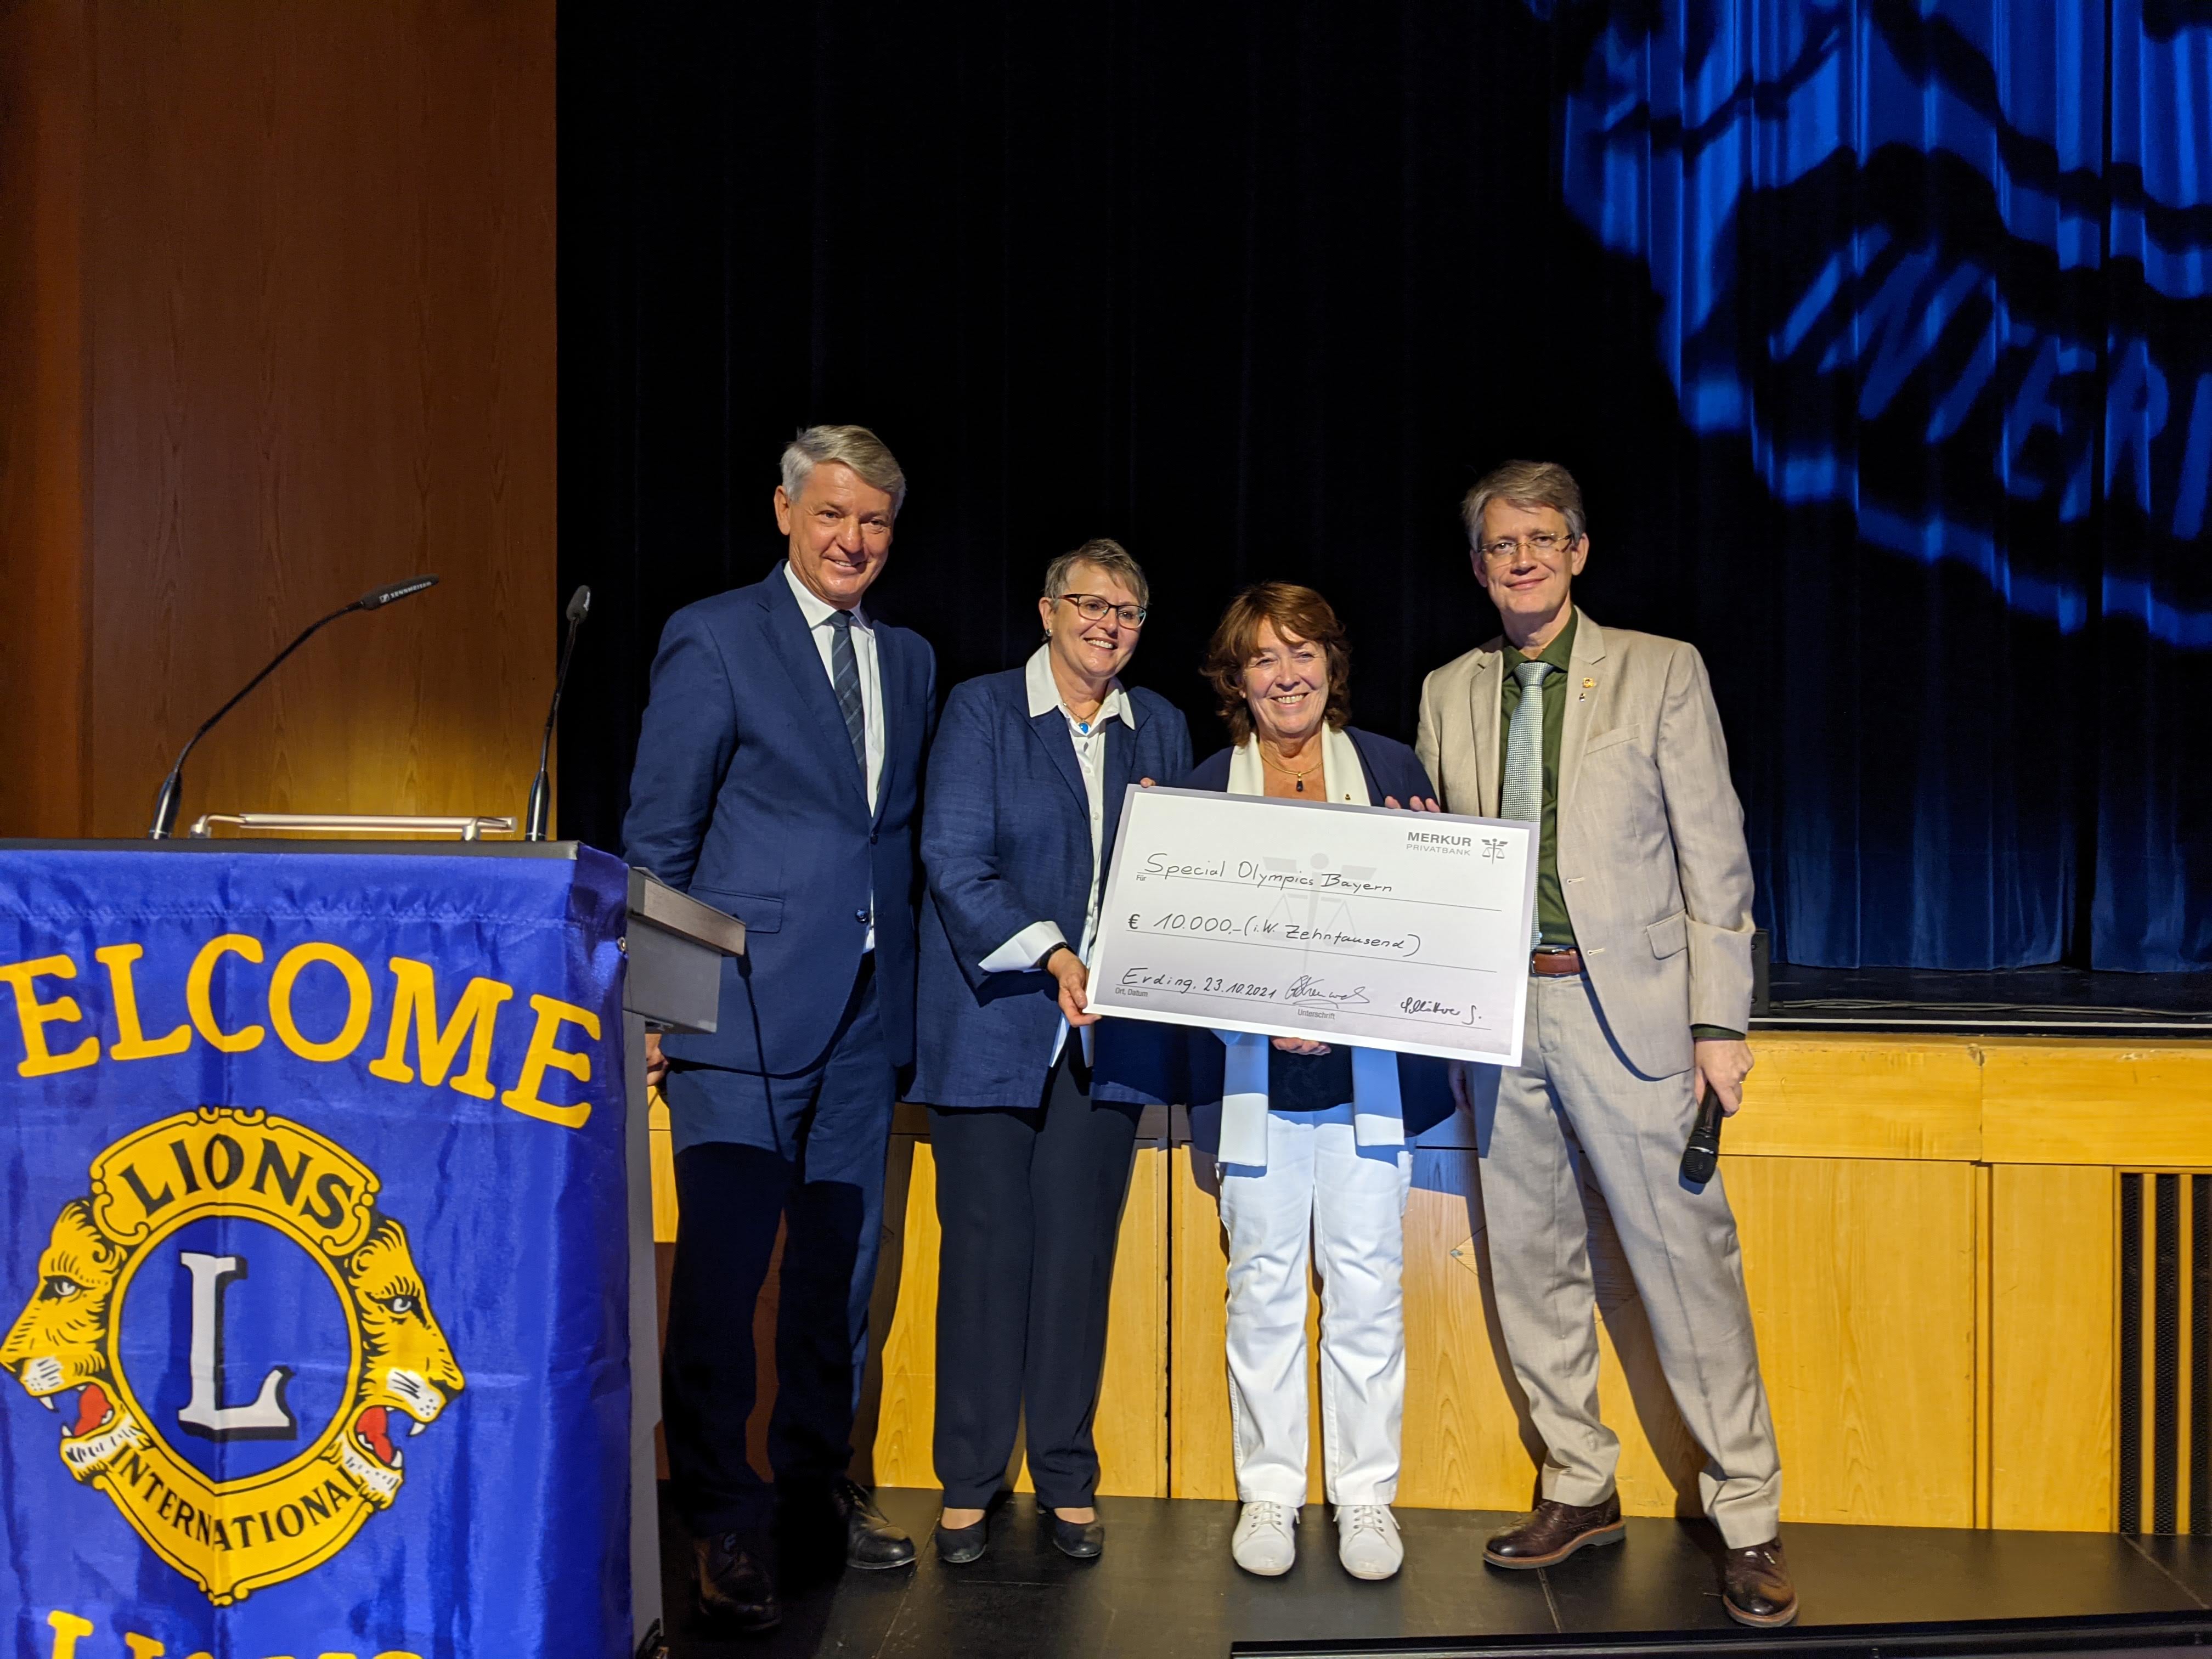
[[[894,1064],[914,1060],[914,821],[938,659],[911,628],[872,624],[883,684],[874,814],[781,562],[661,630],[624,856],[745,922],[745,960],[723,962],[721,1029],[670,1035],[677,1060],[765,1073],[821,1060],[860,969],[872,898],[885,1046]]]

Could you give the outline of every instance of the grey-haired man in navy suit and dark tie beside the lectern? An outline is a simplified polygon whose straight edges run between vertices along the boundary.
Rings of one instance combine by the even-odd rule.
[[[914,1542],[845,1478],[883,1230],[898,1068],[914,1060],[914,821],[936,708],[929,644],[860,597],[907,480],[865,427],[783,451],[765,582],[677,611],[653,661],[628,858],[745,922],[712,1037],[648,1048],[675,1130],[675,1279],[661,1360],[668,1471],[699,1601],[781,1617],[770,1531],[852,1566]],[[776,1223],[770,1489],[745,1460],[752,1312]]]

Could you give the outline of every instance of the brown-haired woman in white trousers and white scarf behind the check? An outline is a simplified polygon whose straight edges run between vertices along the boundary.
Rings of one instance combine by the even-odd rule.
[[[1263,582],[1214,628],[1206,672],[1234,745],[1188,787],[1436,810],[1413,750],[1347,726],[1345,630],[1312,588]],[[1336,900],[1290,896],[1301,927]],[[1312,914],[1307,914],[1312,911]],[[1349,918],[1347,918],[1349,920]],[[1228,1367],[1237,1431],[1232,1551],[1287,1573],[1305,1502],[1307,1241],[1321,1267],[1323,1486],[1336,1555],[1363,1579],[1405,1559],[1398,1429],[1405,1416],[1405,1199],[1409,1139],[1451,1113],[1440,1060],[1223,1031],[1199,1037],[1192,1102],[1221,1102],[1221,1221],[1230,1237]]]

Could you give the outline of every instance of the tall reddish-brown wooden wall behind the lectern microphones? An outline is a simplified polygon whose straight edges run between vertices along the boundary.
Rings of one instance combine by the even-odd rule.
[[[0,830],[142,834],[175,750],[261,661],[422,571],[445,586],[334,624],[208,739],[186,818],[520,812],[560,613],[553,0],[27,0],[7,27],[49,49],[75,27],[88,66],[82,232],[24,230],[0,188],[0,246],[31,237],[0,283],[29,259],[82,312],[73,427],[40,394],[29,544],[62,595],[40,650],[75,666],[53,686],[82,779],[71,823],[49,763],[49,810],[11,799]],[[0,400],[18,420],[22,394]],[[0,542],[27,511],[11,478]],[[66,719],[38,730],[66,748]]]

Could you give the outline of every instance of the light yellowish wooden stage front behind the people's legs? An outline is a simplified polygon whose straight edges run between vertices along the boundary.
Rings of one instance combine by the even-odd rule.
[[[2205,1462],[2190,1455],[2203,1416],[2190,1380],[2205,1367],[2185,1263],[2212,1230],[2212,1042],[1756,1033],[1752,1046],[1721,1181],[1783,1449],[1783,1520],[2185,1531]],[[653,1146],[657,1234],[672,1239],[659,1106]],[[1106,1493],[1234,1498],[1210,1164],[1181,1110],[1144,1126],[1099,1398]],[[1498,1345],[1464,1115],[1420,1139],[1413,1188],[1398,1504],[1524,1509],[1540,1453]],[[889,1486],[936,1484],[933,1194],[927,1119],[902,1106],[858,1436],[858,1473]],[[2141,1228],[2128,1241],[2124,1217]],[[1699,1451],[1604,1223],[1595,1254],[1621,1502],[1694,1515]],[[2161,1259],[2183,1270],[2154,1285]],[[770,1332],[763,1296],[763,1376]],[[765,1405],[763,1389],[757,1460]],[[1316,1405],[1316,1500],[1318,1436]],[[1015,1475],[1026,1489],[1020,1455]]]

